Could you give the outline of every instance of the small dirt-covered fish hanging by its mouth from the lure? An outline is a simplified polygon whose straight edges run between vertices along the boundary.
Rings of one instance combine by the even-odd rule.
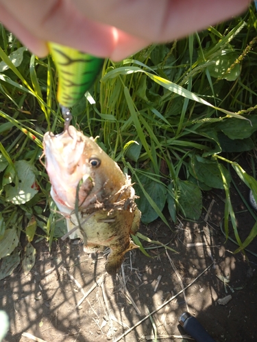
[[[116,274],[125,253],[138,248],[130,237],[140,224],[130,176],[93,137],[73,126],[59,135],[45,133],[43,149],[50,194],[66,218],[70,238],[82,238],[87,252],[109,247],[106,272]]]

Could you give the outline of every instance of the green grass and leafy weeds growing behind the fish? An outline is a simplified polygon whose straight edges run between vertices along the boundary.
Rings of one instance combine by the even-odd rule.
[[[254,177],[236,162],[245,151],[254,156],[256,143],[256,23],[252,6],[184,40],[151,45],[119,63],[106,60],[73,107],[73,125],[99,135],[101,148],[132,175],[145,224],[158,217],[168,224],[166,204],[174,222],[178,215],[197,220],[202,191],[217,188],[225,190],[226,236],[231,222],[238,250],[256,237],[256,224],[245,241],[238,235],[228,168],[257,201]],[[51,57],[38,60],[3,27],[0,47],[0,249],[14,237],[5,255],[18,260],[19,235],[25,232],[30,244],[33,222],[42,228],[37,240],[50,246],[64,230],[38,161],[42,135],[61,131],[63,119]]]

